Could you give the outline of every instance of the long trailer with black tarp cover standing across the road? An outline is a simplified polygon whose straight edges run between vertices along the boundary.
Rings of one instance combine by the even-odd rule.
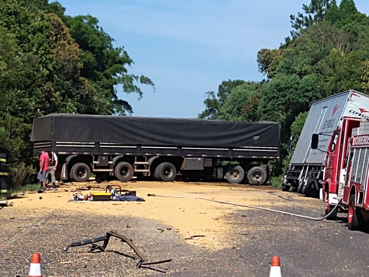
[[[53,113],[33,120],[31,141],[35,156],[40,148],[57,154],[61,180],[186,175],[258,185],[279,158],[280,125]]]

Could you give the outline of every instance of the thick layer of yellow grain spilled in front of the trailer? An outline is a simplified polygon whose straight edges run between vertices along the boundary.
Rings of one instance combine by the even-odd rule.
[[[122,189],[135,190],[138,197],[145,202],[68,202],[72,199],[73,185],[62,185],[58,191],[48,191],[42,194],[26,193],[24,197],[13,199],[11,215],[9,208],[8,217],[20,217],[24,215],[44,216],[50,212],[60,210],[89,212],[95,215],[132,216],[137,218],[153,219],[163,225],[173,226],[175,232],[182,238],[202,235],[196,240],[186,240],[189,244],[206,247],[211,250],[219,250],[229,247],[231,242],[227,238],[232,231],[232,226],[225,219],[226,215],[239,213],[240,207],[220,204],[200,199],[189,198],[164,198],[147,196],[148,194],[163,196],[191,196],[207,199],[216,199],[224,202],[234,202],[244,205],[263,206],[274,209],[286,209],[296,205],[296,194],[282,192],[270,187],[252,187],[243,185],[230,185],[220,183],[185,183],[185,182],[96,182],[79,183],[78,187],[91,185],[89,191],[81,191],[83,194],[105,191],[108,184],[121,185]],[[39,199],[39,198],[42,199]],[[306,205],[316,205],[316,199],[300,198]],[[311,202],[311,203],[310,203]],[[248,208],[242,208],[247,211]],[[10,223],[10,222],[9,222]],[[158,227],[161,229],[160,227]]]

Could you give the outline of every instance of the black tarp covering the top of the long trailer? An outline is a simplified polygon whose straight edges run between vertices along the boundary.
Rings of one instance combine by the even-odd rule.
[[[275,122],[230,122],[53,113],[35,118],[31,141],[105,142],[127,145],[279,146]]]

